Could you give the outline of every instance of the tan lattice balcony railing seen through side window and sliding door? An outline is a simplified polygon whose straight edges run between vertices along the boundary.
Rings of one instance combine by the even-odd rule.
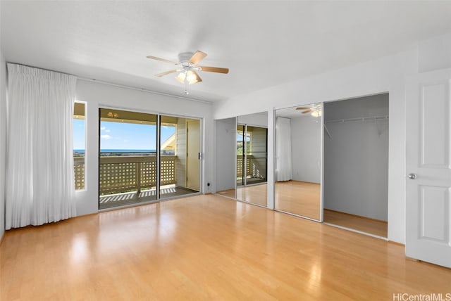
[[[176,184],[175,155],[161,155],[160,185]],[[85,158],[74,158],[75,189],[85,187]],[[156,187],[156,156],[108,156],[99,164],[100,195]]]

